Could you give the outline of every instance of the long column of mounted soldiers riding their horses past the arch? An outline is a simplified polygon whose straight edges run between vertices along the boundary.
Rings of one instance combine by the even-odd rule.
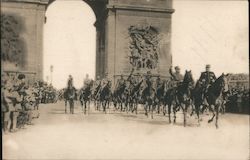
[[[153,76],[150,71],[145,75],[134,74],[132,69],[130,75],[125,78],[121,75],[112,86],[111,80],[107,77],[95,81],[89,79],[88,75],[84,79],[83,87],[77,91],[73,86],[73,78],[70,75],[67,87],[62,91],[65,100],[65,113],[67,113],[67,103],[69,103],[70,113],[74,113],[74,100],[77,98],[81,102],[82,111],[90,112],[90,102],[93,102],[95,109],[107,113],[111,107],[114,111],[132,112],[137,114],[138,106],[143,106],[146,116],[162,112],[168,114],[171,123],[171,113],[173,121],[176,122],[176,112],[181,110],[184,115],[184,126],[186,126],[187,111],[191,108],[192,113],[198,116],[200,124],[200,114],[205,110],[212,112],[209,123],[215,118],[215,125],[218,127],[219,112],[225,111],[225,102],[228,94],[227,76],[224,73],[216,78],[210,71],[210,65],[206,65],[206,71],[202,72],[200,78],[195,83],[191,71],[180,73],[180,68],[169,69],[170,80],[162,79],[160,76]]]

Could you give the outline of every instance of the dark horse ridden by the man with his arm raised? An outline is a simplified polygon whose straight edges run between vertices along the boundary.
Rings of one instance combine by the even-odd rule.
[[[176,88],[176,98],[177,98],[177,106],[180,106],[183,111],[184,116],[184,127],[186,126],[186,114],[189,106],[192,105],[192,89],[193,89],[193,76],[192,72],[185,72],[183,82],[177,86]],[[176,114],[176,108],[173,110],[174,115]],[[176,116],[174,116],[174,122],[176,122]]]

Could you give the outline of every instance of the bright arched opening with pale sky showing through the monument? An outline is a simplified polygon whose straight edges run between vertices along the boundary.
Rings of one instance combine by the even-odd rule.
[[[95,77],[96,21],[83,1],[55,1],[46,11],[44,25],[44,80],[58,89],[69,75],[80,88],[86,74]]]

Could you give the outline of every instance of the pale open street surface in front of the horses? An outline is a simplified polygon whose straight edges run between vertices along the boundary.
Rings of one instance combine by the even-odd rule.
[[[64,103],[40,105],[34,125],[3,135],[4,159],[249,159],[249,116],[221,115],[219,129],[208,116],[197,126],[195,116],[183,127],[155,114],[126,112],[89,115],[76,104],[75,114],[64,113]],[[69,109],[68,109],[69,112]]]

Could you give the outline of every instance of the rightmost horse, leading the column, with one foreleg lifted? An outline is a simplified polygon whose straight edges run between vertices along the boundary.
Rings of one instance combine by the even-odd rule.
[[[208,123],[211,123],[214,117],[216,117],[215,126],[217,129],[219,128],[218,125],[219,110],[224,101],[223,92],[228,91],[227,76],[228,75],[224,75],[224,73],[222,73],[222,75],[208,87],[207,93],[205,94],[208,107],[213,113],[213,116],[211,119],[208,120]]]

